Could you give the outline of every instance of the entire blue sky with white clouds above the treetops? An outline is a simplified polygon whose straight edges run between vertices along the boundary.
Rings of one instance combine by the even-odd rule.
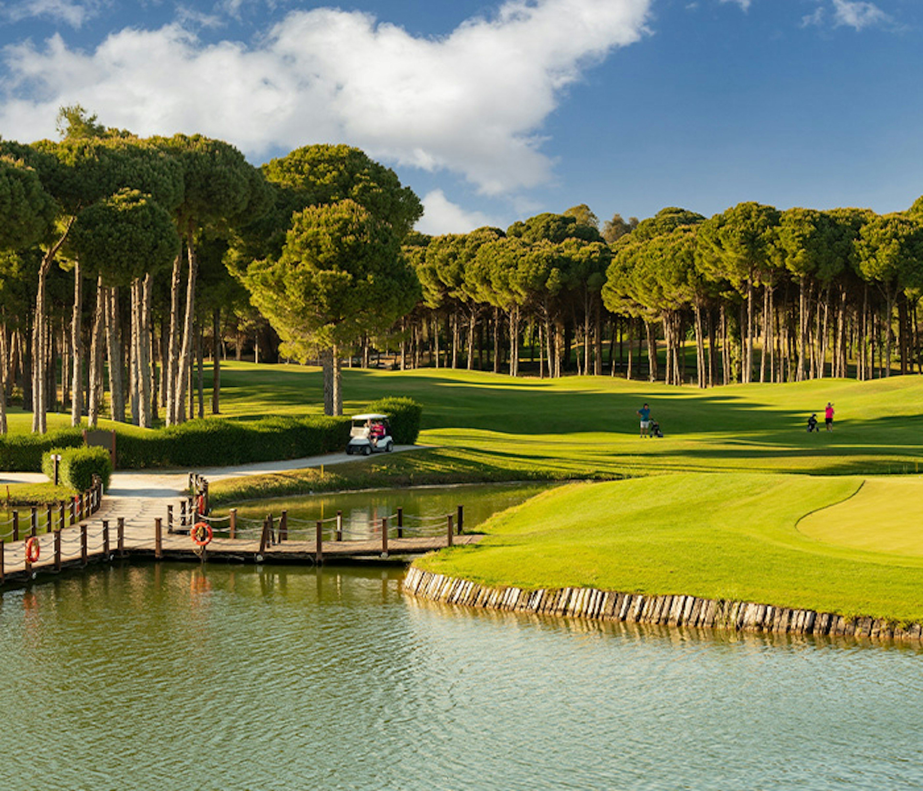
[[[921,0],[2,0],[0,31],[4,138],[79,102],[254,163],[346,142],[428,233],[923,194]]]

